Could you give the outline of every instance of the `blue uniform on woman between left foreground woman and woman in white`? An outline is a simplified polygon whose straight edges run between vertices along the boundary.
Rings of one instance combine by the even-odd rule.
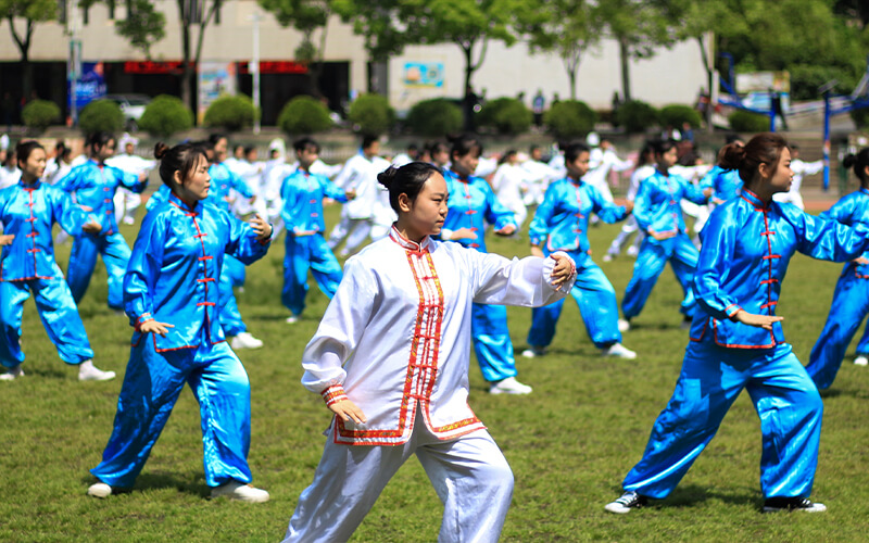
[[[287,226],[284,240],[284,291],[280,299],[293,315],[301,315],[307,295],[307,272],[314,274],[319,289],[331,298],[341,282],[341,265],[323,238],[323,199],[347,202],[344,191],[328,177],[301,168],[284,179],[280,190],[284,209],[280,217]]]

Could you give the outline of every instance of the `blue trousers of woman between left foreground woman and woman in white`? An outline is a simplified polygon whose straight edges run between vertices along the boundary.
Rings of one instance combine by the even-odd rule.
[[[338,290],[343,273],[323,235],[295,237],[289,231],[284,240],[284,291],[280,301],[301,315],[307,295],[307,270],[314,275],[319,290],[331,299]]]

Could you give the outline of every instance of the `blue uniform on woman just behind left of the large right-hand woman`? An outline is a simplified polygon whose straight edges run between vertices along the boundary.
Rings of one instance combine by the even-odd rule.
[[[681,312],[691,317],[694,312],[694,294],[691,291],[691,279],[697,267],[697,249],[689,239],[685,222],[679,202],[688,199],[696,204],[706,203],[706,197],[688,179],[678,175],[654,175],[640,184],[634,200],[633,217],[640,229],[648,236],[640,245],[640,254],[633,265],[633,276],[621,300],[621,312],[625,318],[633,318],[645,306],[648,294],[664,272],[669,261],[676,279],[685,294]],[[651,232],[675,232],[672,238],[658,241]]]

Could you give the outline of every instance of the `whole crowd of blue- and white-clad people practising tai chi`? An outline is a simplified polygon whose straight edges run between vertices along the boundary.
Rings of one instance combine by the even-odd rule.
[[[642,460],[605,509],[625,514],[666,497],[743,389],[764,421],[764,510],[826,509],[809,500],[818,389],[832,384],[869,313],[869,149],[845,162],[861,188],[818,217],[799,197],[802,176],[818,165],[799,161],[796,146],[774,134],[728,141],[715,165],[672,139],[648,141],[635,160],[624,160],[594,132],[545,159],[540,147],[486,156],[477,136],[463,135],[388,160],[380,140],[366,137],[343,165],[324,163],[311,138],[294,141],[291,153],[275,140],[265,161],[242,146],[230,156],[219,134],[158,143],[153,160],[136,155],[136,146],[128,135],[98,132],[85,156],[72,159],[63,143],[49,157],[36,141],[21,141],[7,153],[14,168],[0,179],[0,380],[24,376],[21,319],[30,293],[60,358],[78,366],[80,380],[115,377],[93,365],[77,310],[97,255],[109,275],[108,305],[133,328],[90,495],[133,487],[189,383],[212,496],[268,500],[251,484],[250,384],[235,352],[263,341],[248,331],[235,289],[284,233],[287,324],[303,318],[308,273],[330,299],[313,316],[319,326],[302,355],[302,383],[335,415],[286,541],[348,539],[413,454],[444,503],[441,538],[498,539],[513,475],[467,404],[471,349],[490,393],[532,393],[517,379],[505,306],[533,307],[520,353],[537,358],[546,355],[570,294],[602,355],[641,357],[622,339],[667,262],[683,290],[673,311],[690,341]],[[118,224],[140,214],[153,168],[162,185],[130,249]],[[618,205],[610,180],[627,174]],[[327,236],[324,205],[331,203],[341,214]],[[637,236],[620,308],[591,255],[588,230],[597,220],[625,223],[606,262],[621,258]],[[54,224],[73,238],[65,276],[54,260]],[[489,235],[527,237],[529,256],[489,253]],[[347,258],[343,269],[336,251]],[[794,252],[846,262],[807,368],[776,316]],[[857,352],[855,363],[867,365],[869,332]]]

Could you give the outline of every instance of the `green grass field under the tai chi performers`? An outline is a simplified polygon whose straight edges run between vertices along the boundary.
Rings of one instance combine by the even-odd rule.
[[[328,211],[335,218],[336,210]],[[591,230],[600,262],[617,226]],[[124,230],[130,245],[135,229]],[[527,241],[492,240],[490,250],[527,254]],[[68,247],[59,248],[65,266]],[[0,383],[0,541],[279,541],[297,498],[310,484],[329,422],[323,401],[305,391],[300,356],[326,307],[313,287],[295,325],[280,305],[282,240],[248,270],[239,306],[249,330],[265,341],[239,353],[252,387],[254,482],[272,493],[263,505],[206,500],[199,411],[182,393],[131,492],[100,501],[85,492],[109,438],[129,355],[126,317],[104,304],[101,265],[80,311],[96,364],[118,378],[80,383],[47,339],[33,302],[25,307],[26,377]],[[619,300],[633,261],[602,263]],[[820,332],[841,266],[796,256],[779,315],[806,363]],[[666,501],[627,516],[604,513],[625,473],[640,458],[652,424],[666,405],[688,341],[679,328],[681,291],[665,270],[625,344],[633,362],[602,358],[568,302],[551,354],[518,357],[529,396],[491,396],[471,363],[470,403],[504,451],[516,476],[502,541],[866,541],[869,519],[869,369],[843,364],[824,396],[820,462],[813,498],[821,515],[761,515],[759,422],[747,394]],[[511,308],[517,353],[530,310]],[[856,340],[855,340],[856,342]],[[849,356],[853,355],[853,346]],[[442,507],[425,472],[408,462],[387,487],[353,541],[434,541]]]

